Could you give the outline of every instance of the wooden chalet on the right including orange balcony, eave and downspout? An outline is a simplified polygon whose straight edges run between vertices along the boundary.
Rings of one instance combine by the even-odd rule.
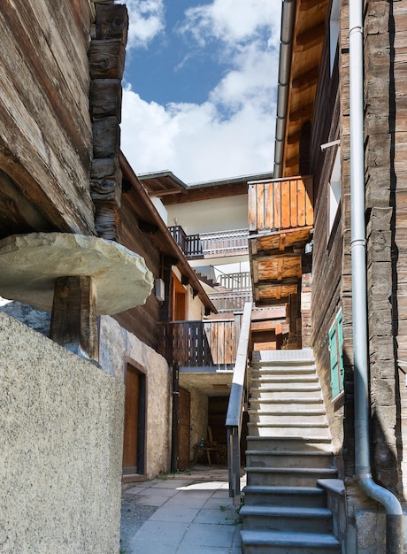
[[[374,553],[402,552],[406,544],[404,14],[405,6],[392,1],[283,0],[274,179],[250,183],[254,297],[264,305],[288,303],[294,348],[313,350],[342,482],[328,493],[338,503],[334,534],[348,552],[365,551],[364,542]],[[351,65],[362,32],[361,60]],[[360,163],[364,194],[352,204]],[[305,203],[298,200],[304,190]],[[351,212],[356,219],[360,205],[365,238],[357,242]],[[365,248],[362,303],[352,299],[357,248]],[[367,368],[359,366],[364,347],[352,304],[367,306]],[[368,390],[361,394],[363,372]],[[370,434],[361,446],[363,411]],[[365,452],[372,475],[361,469]],[[392,518],[394,527],[386,527]],[[380,538],[372,540],[373,529]]]

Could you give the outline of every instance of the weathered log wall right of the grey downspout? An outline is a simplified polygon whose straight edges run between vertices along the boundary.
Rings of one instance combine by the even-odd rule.
[[[405,2],[368,2],[365,174],[373,477],[403,497],[398,360],[407,360],[407,19]],[[406,366],[404,366],[406,368]],[[405,437],[404,437],[405,438]],[[404,485],[405,489],[405,485]]]

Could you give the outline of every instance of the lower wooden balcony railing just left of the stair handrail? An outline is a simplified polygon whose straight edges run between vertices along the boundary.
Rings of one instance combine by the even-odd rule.
[[[240,319],[158,323],[158,353],[169,364],[232,369]]]

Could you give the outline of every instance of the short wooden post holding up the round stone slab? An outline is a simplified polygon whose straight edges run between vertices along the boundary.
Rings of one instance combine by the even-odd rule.
[[[91,277],[59,277],[50,338],[84,358],[98,359],[96,288]]]

